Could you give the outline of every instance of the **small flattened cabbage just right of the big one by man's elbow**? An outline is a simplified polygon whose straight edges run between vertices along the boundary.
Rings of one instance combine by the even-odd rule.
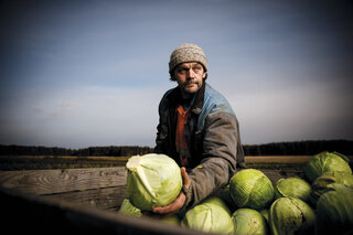
[[[291,196],[309,202],[310,191],[310,184],[301,178],[279,179],[275,186],[275,196]]]

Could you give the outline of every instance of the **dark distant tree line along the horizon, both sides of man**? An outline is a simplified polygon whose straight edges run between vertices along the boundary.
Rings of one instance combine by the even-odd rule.
[[[293,142],[272,142],[265,145],[244,145],[246,156],[310,156],[322,151],[338,151],[353,156],[351,140],[309,140]],[[0,145],[0,156],[111,156],[126,157],[147,154],[153,148],[139,146],[89,147],[66,149],[57,147],[4,146]]]

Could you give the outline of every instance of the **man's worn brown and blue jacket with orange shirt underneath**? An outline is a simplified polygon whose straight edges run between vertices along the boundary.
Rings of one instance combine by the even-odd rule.
[[[239,126],[226,98],[205,82],[190,100],[180,87],[168,90],[159,105],[156,153],[186,167],[185,206],[200,203],[226,185],[245,167]]]

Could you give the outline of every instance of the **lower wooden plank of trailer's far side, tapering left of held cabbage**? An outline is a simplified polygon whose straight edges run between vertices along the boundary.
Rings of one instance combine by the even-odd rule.
[[[82,206],[97,207],[100,210],[117,211],[124,199],[127,197],[126,186],[114,186],[97,190],[76,191],[50,195],[41,195],[54,202],[69,202]]]

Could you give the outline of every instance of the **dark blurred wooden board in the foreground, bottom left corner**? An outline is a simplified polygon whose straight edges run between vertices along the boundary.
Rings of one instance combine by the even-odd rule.
[[[0,188],[0,207],[6,215],[1,229],[12,234],[211,235],[151,218],[57,203],[13,189]]]

